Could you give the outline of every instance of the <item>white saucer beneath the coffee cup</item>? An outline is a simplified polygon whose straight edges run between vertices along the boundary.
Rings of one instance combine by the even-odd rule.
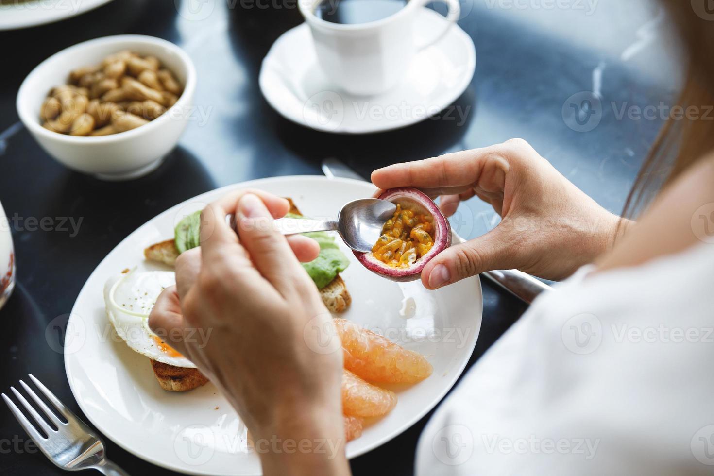
[[[414,28],[423,35],[446,19],[423,9]],[[438,43],[420,51],[396,88],[378,96],[340,91],[317,64],[310,29],[286,31],[263,59],[263,96],[285,118],[318,131],[371,133],[409,126],[442,111],[466,91],[476,69],[471,37],[453,25]]]

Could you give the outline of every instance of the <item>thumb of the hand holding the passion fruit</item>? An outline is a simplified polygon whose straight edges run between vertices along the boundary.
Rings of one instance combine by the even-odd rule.
[[[421,282],[428,289],[438,289],[484,271],[511,269],[509,248],[511,240],[496,226],[483,236],[443,250],[424,266]]]

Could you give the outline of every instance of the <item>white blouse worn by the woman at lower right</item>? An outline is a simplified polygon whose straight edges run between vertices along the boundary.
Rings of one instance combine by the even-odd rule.
[[[416,474],[714,474],[714,244],[587,266],[533,303],[419,440]]]

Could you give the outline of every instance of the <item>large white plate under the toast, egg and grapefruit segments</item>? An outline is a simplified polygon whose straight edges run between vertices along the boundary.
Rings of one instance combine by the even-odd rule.
[[[201,475],[261,474],[258,456],[246,445],[245,426],[211,383],[188,393],[166,392],[156,383],[149,359],[112,338],[102,289],[107,278],[124,268],[156,269],[144,262],[144,247],[173,236],[175,223],[186,213],[243,186],[289,196],[312,216],[333,216],[343,203],[374,191],[371,184],[361,181],[294,176],[203,193],[161,213],[114,248],[87,280],[69,319],[65,367],[84,414],[116,444],[171,470]],[[476,345],[482,299],[478,278],[427,291],[418,281],[400,285],[379,278],[344,250],[352,263],[343,278],[353,301],[343,317],[426,355],[434,368],[423,382],[396,389],[395,409],[348,443],[348,457],[356,457],[413,425],[451,388]],[[409,319],[399,314],[405,294],[416,302],[416,314]]]

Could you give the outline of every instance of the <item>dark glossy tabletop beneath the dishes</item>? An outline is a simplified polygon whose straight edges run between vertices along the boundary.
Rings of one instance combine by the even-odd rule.
[[[176,5],[181,0],[118,0],[58,24],[0,32],[0,200],[9,217],[19,218],[13,230],[19,280],[0,311],[4,392],[34,373],[81,415],[63,356],[45,338],[46,326],[66,321],[62,316],[70,312],[86,278],[122,238],[186,198],[253,178],[318,174],[328,156],[368,177],[373,168],[389,163],[522,137],[603,206],[620,211],[662,124],[658,117],[620,112],[660,101],[670,104],[679,81],[676,68],[667,66],[673,54],[658,11],[638,1],[566,0],[560,8],[548,8],[550,3],[538,0],[462,0],[459,24],[478,54],[471,86],[456,101],[468,111],[466,121],[434,118],[398,131],[336,136],[286,121],[258,90],[268,48],[301,23],[294,1],[196,1],[192,5],[199,14],[193,18],[179,14]],[[211,11],[204,15],[202,8]],[[206,124],[191,122],[178,147],[151,175],[106,183],[71,172],[41,151],[18,124],[15,96],[24,76],[54,52],[127,33],[160,36],[183,46],[198,70],[196,104],[210,107],[211,115]],[[568,118],[568,101],[580,106],[583,95],[569,98],[581,91],[590,91],[585,98],[597,98],[602,105],[595,116],[600,122],[585,132],[575,130],[581,127]],[[71,236],[59,229],[32,231],[32,217],[82,221],[79,233]],[[470,201],[454,224],[462,236],[473,238],[496,223],[493,211]],[[526,310],[488,281],[483,291],[483,326],[470,366]],[[0,407],[0,473],[59,473]],[[353,472],[411,475],[428,417],[353,460]],[[112,442],[109,455],[132,474],[167,473]]]

